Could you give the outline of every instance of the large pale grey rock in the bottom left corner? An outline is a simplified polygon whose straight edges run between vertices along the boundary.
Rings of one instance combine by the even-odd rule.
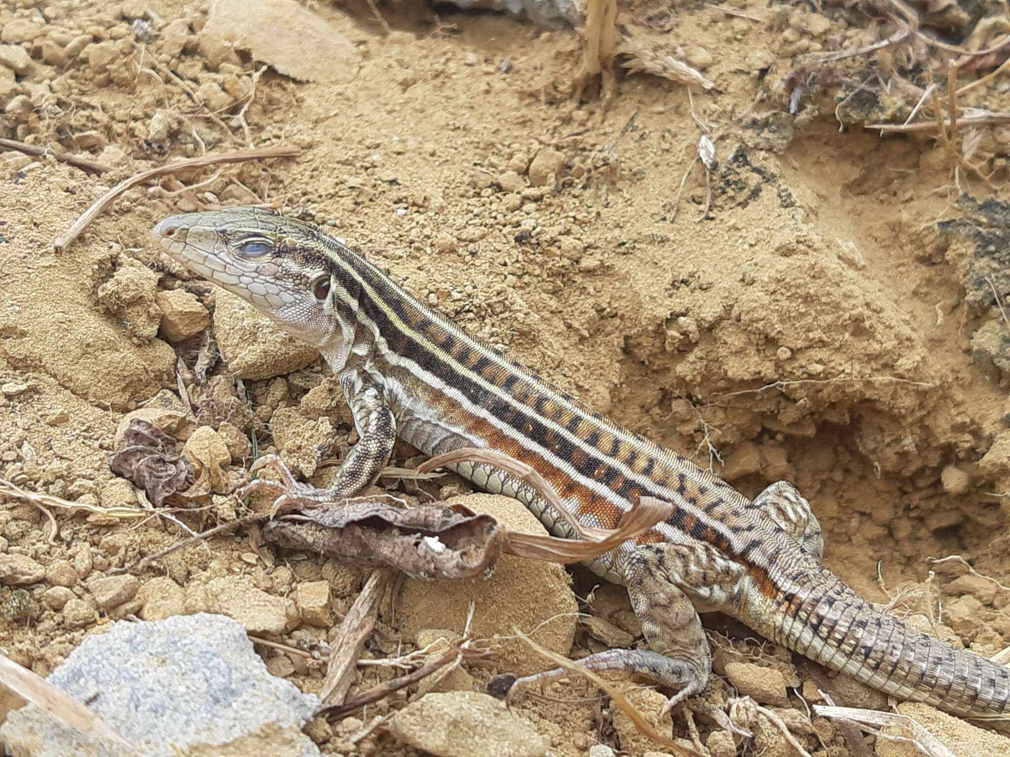
[[[319,754],[301,733],[319,700],[268,673],[245,630],[226,618],[117,623],[88,637],[48,680],[88,700],[137,747],[130,754]],[[54,723],[34,706],[10,713],[0,739],[26,757],[126,754]]]

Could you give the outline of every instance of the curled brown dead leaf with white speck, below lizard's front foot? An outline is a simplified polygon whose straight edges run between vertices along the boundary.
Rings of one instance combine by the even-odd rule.
[[[304,511],[264,526],[268,541],[359,565],[399,568],[415,578],[486,575],[498,560],[503,531],[491,516],[460,506],[404,509],[385,500],[350,501]]]

